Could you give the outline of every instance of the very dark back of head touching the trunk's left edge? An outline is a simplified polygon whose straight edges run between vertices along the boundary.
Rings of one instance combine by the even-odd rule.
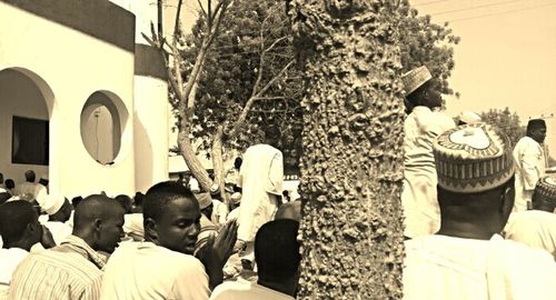
[[[259,280],[284,282],[299,270],[301,256],[297,231],[299,222],[290,219],[265,223],[255,237],[255,260]]]

